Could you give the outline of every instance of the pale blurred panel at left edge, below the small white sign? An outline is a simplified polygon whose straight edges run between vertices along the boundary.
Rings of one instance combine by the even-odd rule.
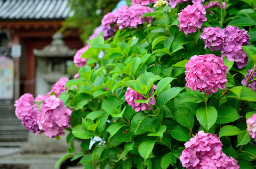
[[[14,63],[0,56],[0,99],[13,99]]]

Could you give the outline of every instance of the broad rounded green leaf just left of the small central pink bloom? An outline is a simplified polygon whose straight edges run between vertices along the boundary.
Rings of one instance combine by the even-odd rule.
[[[108,114],[119,114],[121,105],[119,104],[118,100],[115,98],[107,98],[102,102],[102,108]]]

